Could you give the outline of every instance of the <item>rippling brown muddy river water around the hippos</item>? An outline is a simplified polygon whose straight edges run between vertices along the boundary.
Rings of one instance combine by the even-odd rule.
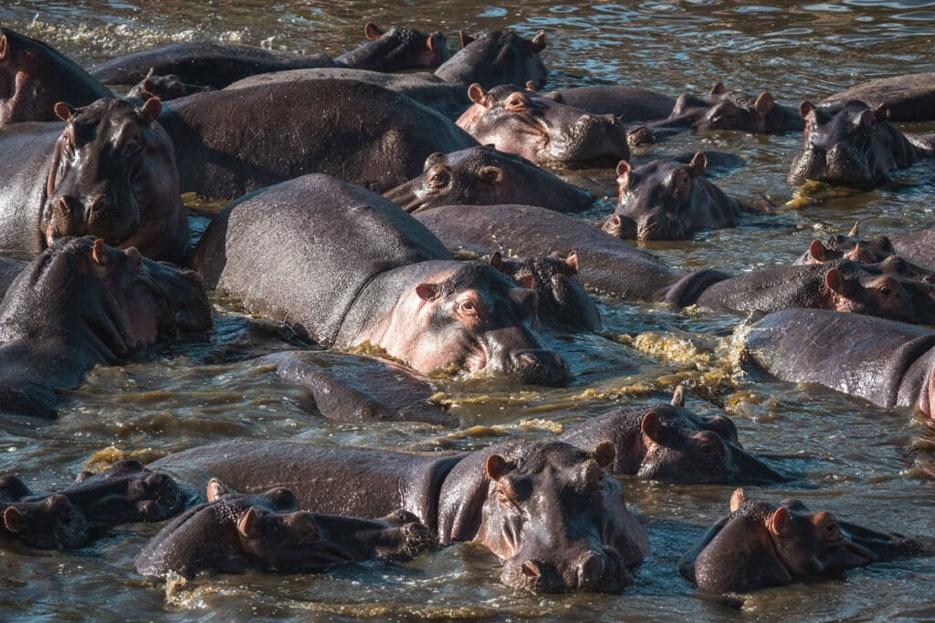
[[[192,3],[6,0],[0,21],[47,39],[88,66],[113,55],[209,37],[273,49],[338,53],[362,40],[363,24],[396,23],[456,30],[545,29],[553,85],[620,82],[677,95],[707,92],[718,80],[785,103],[818,99],[858,81],[935,70],[935,3],[853,2],[749,5],[652,2],[497,7],[472,2],[309,3],[215,0]],[[935,129],[935,128],[931,128]],[[792,199],[784,177],[798,136],[684,135],[665,150],[722,149],[747,166],[722,177],[726,191],[749,202]],[[655,246],[672,264],[743,271],[789,262],[817,235],[860,219],[865,233],[935,226],[935,167],[919,165],[883,191],[844,193],[821,205],[747,219],[737,230],[699,234]],[[796,202],[797,205],[808,204]],[[601,205],[597,218],[609,209]],[[203,221],[201,222],[203,226]],[[69,482],[88,462],[166,452],[231,438],[303,439],[322,445],[398,449],[472,448],[506,436],[548,437],[614,404],[668,399],[688,380],[689,406],[720,408],[744,444],[784,457],[807,474],[787,495],[871,527],[935,536],[935,488],[922,462],[935,446],[921,419],[825,389],[742,375],[737,335],[745,319],[676,313],[600,301],[606,335],[547,331],[571,362],[568,389],[521,389],[503,381],[440,383],[463,429],[424,424],[353,426],[313,415],[309,397],[279,381],[253,357],[295,348],[281,327],[217,301],[210,341],[154,349],[134,365],[94,370],[65,397],[53,424],[0,419],[0,471],[23,474],[37,490]],[[611,339],[612,338],[612,339]],[[928,435],[928,439],[927,439]],[[497,581],[496,559],[456,545],[407,565],[370,564],[316,576],[223,576],[180,586],[132,571],[131,559],[157,527],[129,527],[79,552],[0,551],[3,620],[333,620],[369,616],[542,616],[574,620],[763,620],[935,617],[935,559],[873,565],[843,581],[706,599],[677,573],[676,560],[726,512],[729,487],[673,487],[625,480],[627,500],[643,517],[653,553],[636,585],[620,596],[534,596]]]

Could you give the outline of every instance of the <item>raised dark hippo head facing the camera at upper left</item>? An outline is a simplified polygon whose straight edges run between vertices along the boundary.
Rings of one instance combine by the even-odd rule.
[[[55,144],[41,228],[47,245],[66,235],[94,235],[120,247],[139,232],[153,202],[179,199],[172,142],[156,122],[162,105],[100,99],[55,105],[65,131]]]

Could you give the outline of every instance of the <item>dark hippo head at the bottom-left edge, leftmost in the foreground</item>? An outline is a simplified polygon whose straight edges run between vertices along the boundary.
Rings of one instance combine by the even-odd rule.
[[[0,503],[0,536],[11,535],[37,549],[74,549],[88,540],[88,524],[64,495],[39,502]]]

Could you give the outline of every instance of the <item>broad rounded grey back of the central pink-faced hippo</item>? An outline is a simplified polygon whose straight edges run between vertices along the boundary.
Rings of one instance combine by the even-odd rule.
[[[193,262],[208,288],[331,345],[374,276],[439,259],[451,255],[398,206],[334,177],[309,175],[225,208],[198,243]]]

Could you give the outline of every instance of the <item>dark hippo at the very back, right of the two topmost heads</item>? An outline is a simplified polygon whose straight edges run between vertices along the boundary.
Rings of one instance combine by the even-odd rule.
[[[460,35],[461,50],[435,70],[438,78],[463,87],[477,83],[483,89],[526,82],[532,82],[537,89],[545,85],[548,73],[539,57],[546,46],[543,31],[532,39],[500,31]]]

